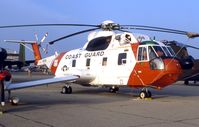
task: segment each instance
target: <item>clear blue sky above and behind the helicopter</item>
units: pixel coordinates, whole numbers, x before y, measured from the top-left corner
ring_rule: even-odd
[[[139,24],[168,27],[185,31],[199,32],[198,0],[1,0],[0,26],[36,23],[85,23],[100,24],[113,20],[119,24]],[[46,42],[71,32],[79,27],[32,27],[0,29],[0,47],[18,50],[16,44],[4,43],[5,39],[35,40],[34,33],[41,38],[45,32]],[[144,33],[157,40],[177,40],[199,47],[198,39],[185,36],[133,31]],[[87,40],[87,34],[74,36],[49,46],[49,54],[80,48]],[[194,56],[199,51],[191,50]],[[31,59],[31,52],[27,52]]]

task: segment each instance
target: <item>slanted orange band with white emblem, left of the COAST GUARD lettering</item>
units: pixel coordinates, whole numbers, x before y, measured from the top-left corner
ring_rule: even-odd
[[[57,67],[59,66],[59,63],[60,63],[62,57],[65,55],[65,53],[66,53],[66,52],[63,52],[63,53],[59,54],[59,55],[54,59],[54,61],[53,61],[53,63],[52,63],[52,66],[51,66],[51,72],[52,72],[53,74],[55,74],[55,72],[56,72],[56,70],[57,70]]]

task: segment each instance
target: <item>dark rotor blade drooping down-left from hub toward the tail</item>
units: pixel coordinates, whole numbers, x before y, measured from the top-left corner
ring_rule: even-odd
[[[52,44],[54,44],[57,41],[60,41],[60,40],[63,40],[63,39],[66,39],[66,38],[69,38],[69,37],[72,37],[72,36],[75,36],[75,35],[78,35],[78,34],[94,31],[94,30],[97,30],[97,29],[100,29],[100,28],[92,28],[92,29],[82,30],[82,31],[79,31],[79,32],[76,32],[76,33],[72,33],[72,34],[60,37],[60,38],[58,38],[56,40],[53,40],[53,41],[50,41],[48,43],[52,45]]]

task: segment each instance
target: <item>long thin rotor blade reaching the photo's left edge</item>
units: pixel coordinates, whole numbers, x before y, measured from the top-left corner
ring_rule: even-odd
[[[35,27],[35,26],[85,26],[85,27],[100,27],[99,25],[90,25],[90,24],[28,24],[28,25],[0,26],[0,28]]]

